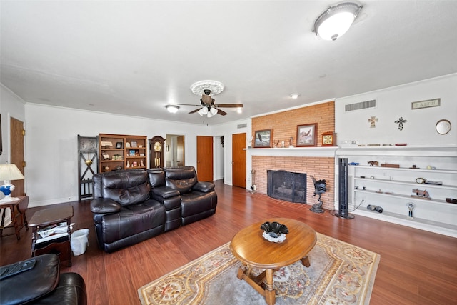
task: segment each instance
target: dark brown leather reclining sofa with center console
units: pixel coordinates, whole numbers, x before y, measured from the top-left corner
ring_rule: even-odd
[[[97,242],[112,252],[216,213],[214,184],[191,166],[94,175]]]

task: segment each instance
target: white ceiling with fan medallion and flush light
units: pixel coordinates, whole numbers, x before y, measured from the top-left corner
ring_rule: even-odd
[[[314,21],[337,3],[1,0],[0,81],[28,103],[212,125],[457,72],[457,1],[358,1],[323,41]],[[205,79],[243,113],[166,111],[199,104]]]

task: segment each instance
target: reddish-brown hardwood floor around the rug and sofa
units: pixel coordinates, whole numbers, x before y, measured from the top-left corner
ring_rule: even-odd
[[[89,228],[89,248],[74,256],[74,271],[86,281],[89,304],[139,304],[137,289],[230,241],[255,221],[288,217],[316,231],[381,254],[371,304],[457,304],[457,239],[363,216],[338,219],[311,206],[251,194],[216,181],[218,206],[207,219],[182,226],[126,249],[106,254],[96,246],[89,201],[72,202],[74,230]],[[29,209],[28,219],[39,209]],[[31,229],[0,239],[0,265],[30,257]],[[311,262],[312,264],[312,262]]]

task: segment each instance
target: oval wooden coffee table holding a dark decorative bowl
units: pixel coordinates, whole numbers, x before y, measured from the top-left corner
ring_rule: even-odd
[[[277,221],[288,227],[286,240],[274,243],[263,238],[261,224],[265,221]],[[231,240],[230,249],[233,255],[241,261],[238,269],[238,279],[245,280],[263,295],[268,305],[276,301],[276,291],[273,289],[273,272],[283,266],[288,266],[301,260],[303,266],[311,266],[307,254],[316,245],[316,231],[301,221],[286,218],[266,219],[239,231]],[[251,276],[251,268],[265,269],[256,277]],[[266,280],[266,289],[261,283]]]

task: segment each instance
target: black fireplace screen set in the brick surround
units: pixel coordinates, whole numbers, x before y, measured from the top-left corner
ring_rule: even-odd
[[[266,171],[266,194],[272,198],[306,204],[306,174],[291,171]]]

